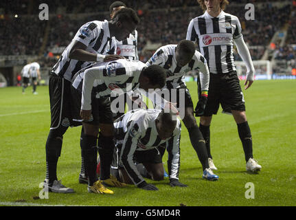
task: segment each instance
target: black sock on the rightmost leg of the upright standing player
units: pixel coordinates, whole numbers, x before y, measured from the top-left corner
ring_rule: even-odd
[[[253,158],[253,142],[248,122],[242,122],[238,124],[238,135],[242,141],[242,148],[244,148],[244,159],[246,159],[247,162],[250,157]]]

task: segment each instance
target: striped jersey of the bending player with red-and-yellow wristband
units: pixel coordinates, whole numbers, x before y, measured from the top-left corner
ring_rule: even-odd
[[[176,47],[177,45],[165,45],[160,47],[147,61],[146,65],[160,65],[164,69],[168,69],[166,78],[167,88],[179,88],[182,85],[186,85],[185,75],[187,72],[200,72],[201,90],[207,91],[209,89],[209,69],[203,55],[196,51],[192,60],[187,63],[187,65],[179,67],[176,61]]]

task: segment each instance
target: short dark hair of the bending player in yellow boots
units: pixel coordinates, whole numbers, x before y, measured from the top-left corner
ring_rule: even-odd
[[[149,79],[152,85],[159,85],[160,88],[166,85],[166,72],[159,65],[150,65],[144,69],[143,74]]]

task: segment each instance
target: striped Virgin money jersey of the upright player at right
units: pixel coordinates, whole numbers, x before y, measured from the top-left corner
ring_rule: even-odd
[[[198,43],[207,59],[209,72],[225,74],[236,70],[234,64],[234,39],[242,37],[238,17],[223,11],[218,17],[207,12],[190,21],[186,39]]]

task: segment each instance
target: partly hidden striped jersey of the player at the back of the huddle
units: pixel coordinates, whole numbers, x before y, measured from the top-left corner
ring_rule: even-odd
[[[127,39],[124,39],[123,41],[116,40],[116,54],[133,61],[139,61],[137,38],[138,32],[135,30],[135,32],[131,33]]]

